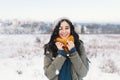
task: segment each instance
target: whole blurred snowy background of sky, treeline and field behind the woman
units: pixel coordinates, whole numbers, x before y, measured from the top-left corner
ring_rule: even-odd
[[[84,80],[120,80],[119,0],[0,0],[0,80],[48,80],[44,50],[59,18],[73,22],[90,68]]]

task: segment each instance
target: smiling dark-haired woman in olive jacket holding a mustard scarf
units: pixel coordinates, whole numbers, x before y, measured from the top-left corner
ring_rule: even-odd
[[[82,80],[86,76],[88,59],[70,20],[56,24],[44,51],[44,72],[49,80]]]

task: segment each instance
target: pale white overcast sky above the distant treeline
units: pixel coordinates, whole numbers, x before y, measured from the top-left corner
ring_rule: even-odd
[[[120,0],[0,0],[0,19],[120,22]]]

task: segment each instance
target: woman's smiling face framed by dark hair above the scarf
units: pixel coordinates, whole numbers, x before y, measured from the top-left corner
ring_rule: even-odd
[[[61,22],[59,27],[59,36],[61,38],[67,38],[69,35],[70,35],[70,25],[66,21]]]

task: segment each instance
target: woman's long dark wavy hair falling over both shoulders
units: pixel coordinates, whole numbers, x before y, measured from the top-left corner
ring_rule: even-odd
[[[63,21],[66,21],[69,25],[70,25],[70,35],[73,35],[74,36],[74,44],[75,44],[75,47],[76,47],[76,50],[78,51],[79,55],[80,55],[80,40],[79,40],[79,35],[75,32],[75,29],[74,29],[74,25],[72,24],[72,22],[68,19],[61,19],[56,25],[55,25],[55,28],[54,28],[54,31],[51,35],[51,38],[50,38],[50,41],[48,42],[48,44],[46,44],[45,46],[49,45],[49,48],[50,50],[52,51],[52,55],[53,57],[56,57],[57,56],[57,47],[55,45],[55,42],[56,42],[56,38],[59,36],[59,27],[61,25],[61,23]],[[46,54],[46,53],[44,53]]]

